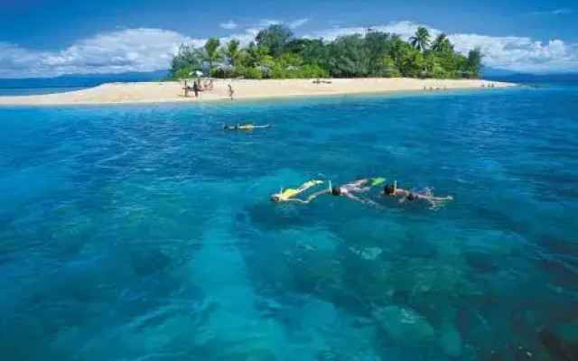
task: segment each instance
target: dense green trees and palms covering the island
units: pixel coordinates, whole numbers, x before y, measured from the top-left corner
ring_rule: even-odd
[[[419,27],[407,42],[389,32],[344,35],[332,42],[296,38],[291,29],[275,24],[258,32],[254,42],[241,47],[232,39],[221,46],[210,38],[194,49],[182,44],[173,56],[170,77],[190,78],[203,70],[217,78],[478,78],[482,54],[454,50],[443,33],[432,40]]]

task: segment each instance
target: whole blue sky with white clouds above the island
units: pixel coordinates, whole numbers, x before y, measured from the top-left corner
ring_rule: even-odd
[[[491,68],[578,71],[577,19],[575,0],[0,0],[0,78],[168,69],[183,42],[247,43],[272,23],[326,40],[422,25]]]

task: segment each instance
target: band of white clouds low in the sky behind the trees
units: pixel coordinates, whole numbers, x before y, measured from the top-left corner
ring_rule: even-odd
[[[238,39],[243,45],[254,40],[263,27],[274,22],[260,22],[244,32],[221,38]],[[297,20],[295,20],[297,22]],[[275,22],[276,23],[276,22]],[[396,32],[404,39],[414,34],[419,24],[395,22],[375,27],[381,32]],[[433,36],[441,32],[428,27]],[[333,27],[307,35],[333,40],[341,35],[363,33],[363,27]],[[515,71],[578,71],[578,43],[553,39],[536,41],[520,36],[488,36],[454,33],[448,37],[457,51],[467,53],[479,47],[484,63],[490,67]],[[205,39],[193,39],[179,32],[163,29],[122,29],[97,34],[73,43],[61,51],[35,51],[17,44],[0,42],[0,78],[51,77],[62,74],[118,73],[168,69],[172,54],[182,43],[200,47]]]

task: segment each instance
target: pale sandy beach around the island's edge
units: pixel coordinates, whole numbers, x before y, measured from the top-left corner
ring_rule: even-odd
[[[103,104],[201,103],[230,101],[228,85],[236,100],[284,97],[343,96],[393,92],[443,92],[456,89],[491,89],[517,84],[483,79],[325,79],[331,83],[314,84],[312,79],[215,79],[213,90],[184,97],[183,82],[107,83],[64,93],[29,96],[0,96],[0,106],[65,106]],[[483,86],[482,86],[483,85]]]

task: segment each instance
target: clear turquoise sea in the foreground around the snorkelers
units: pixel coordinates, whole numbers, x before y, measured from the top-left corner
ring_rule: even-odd
[[[0,108],[0,358],[563,359],[577,115],[575,87]],[[274,127],[220,130],[246,119]],[[455,199],[268,200],[374,175]]]

